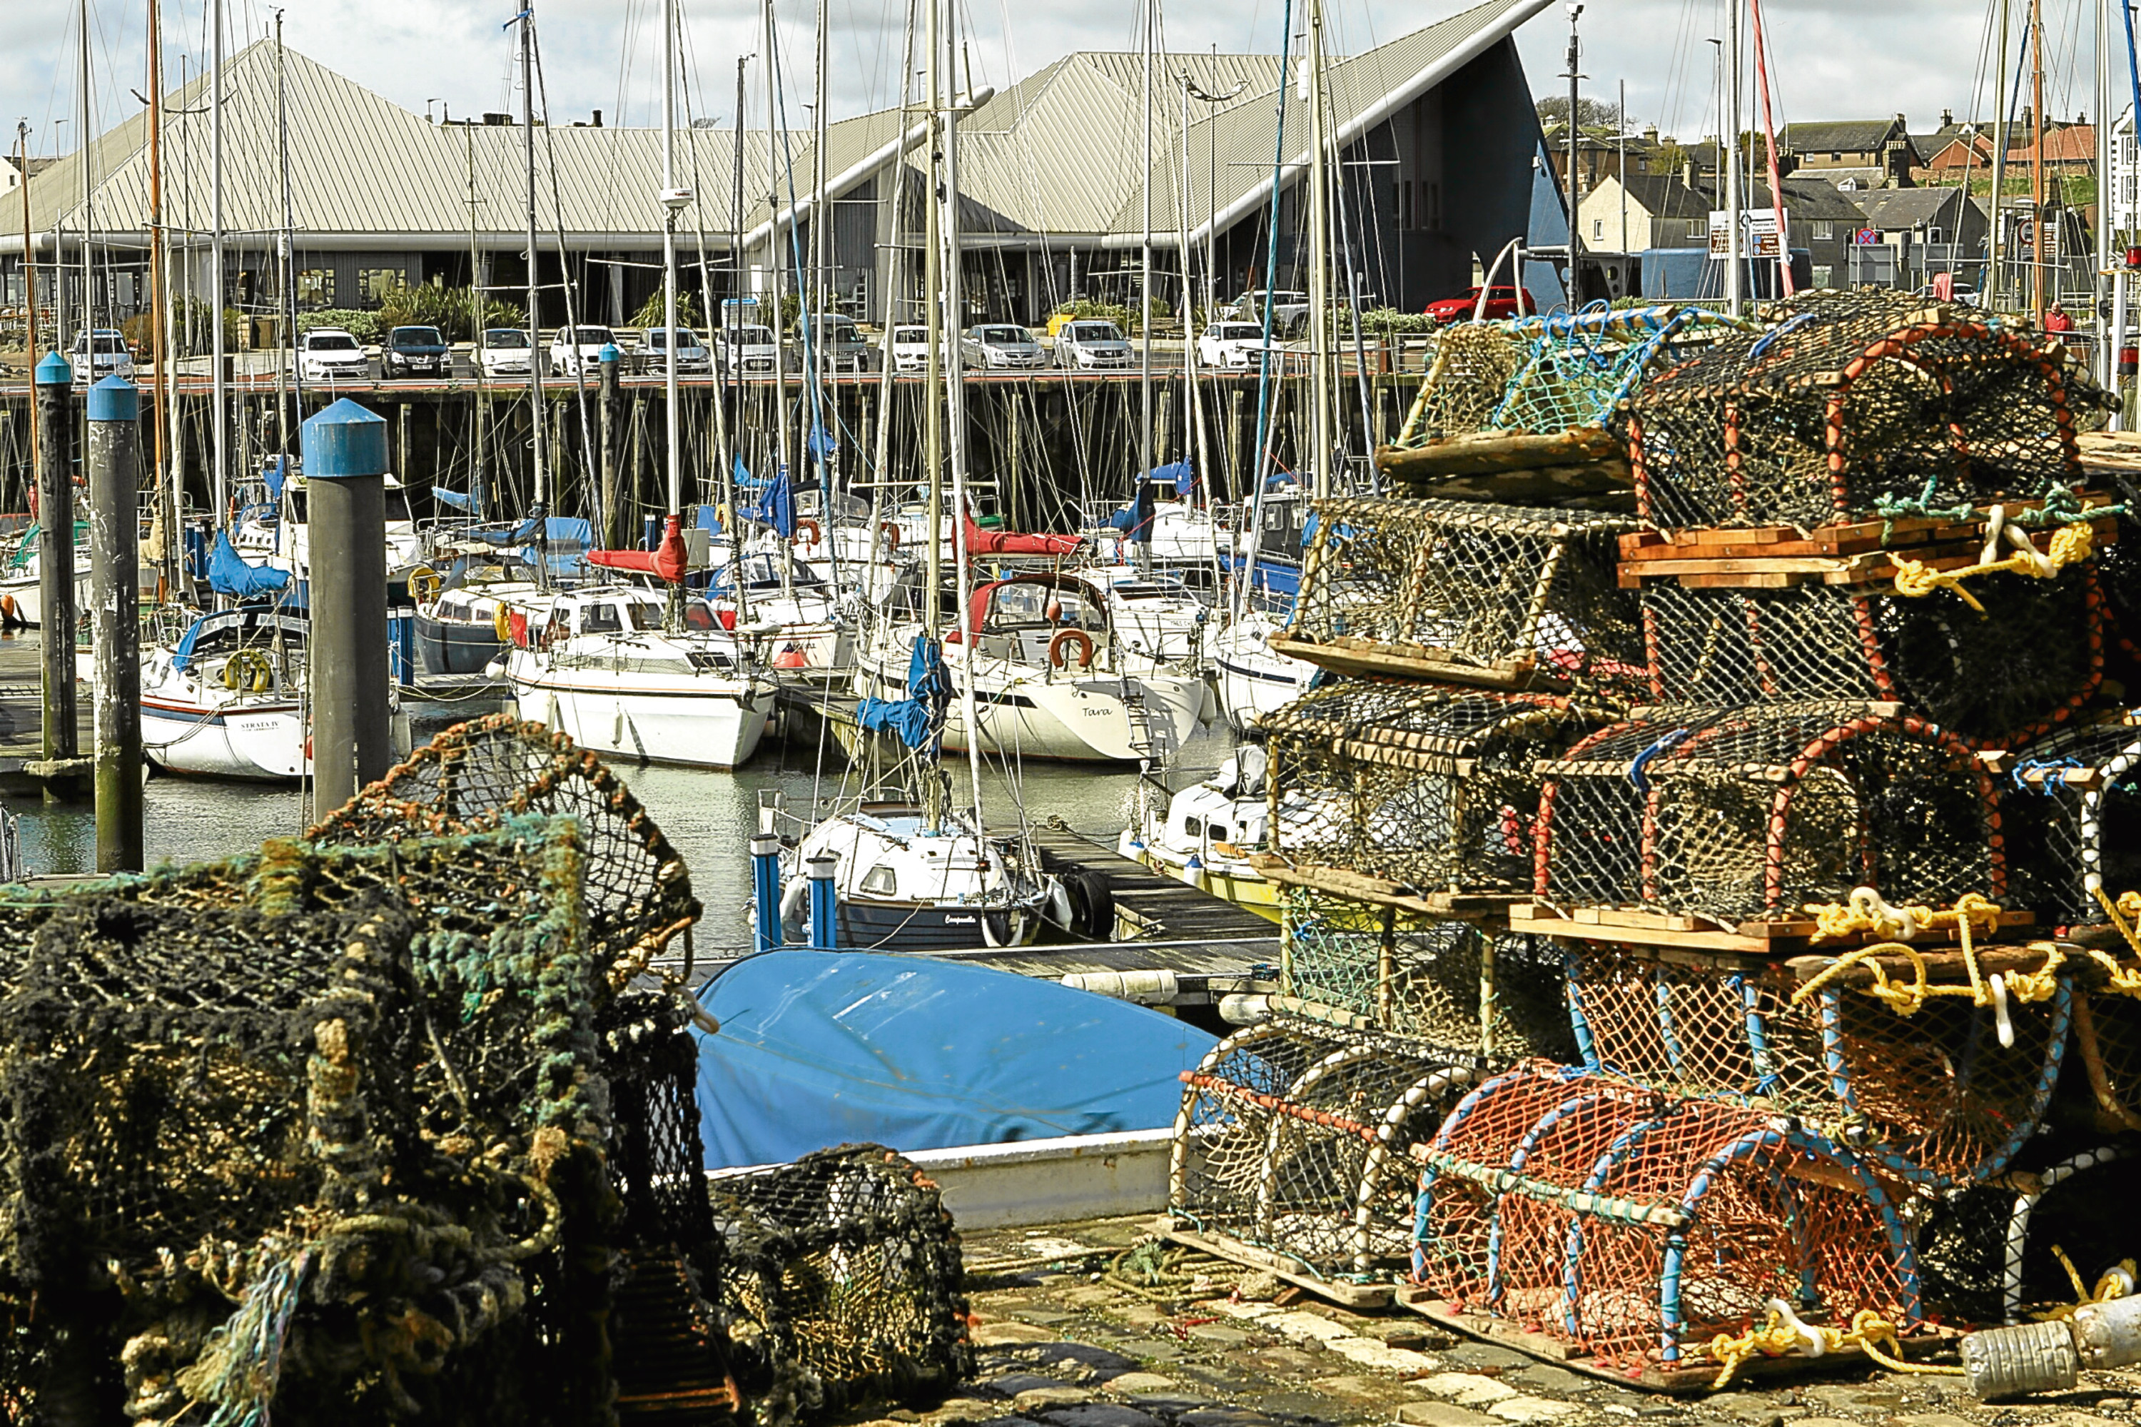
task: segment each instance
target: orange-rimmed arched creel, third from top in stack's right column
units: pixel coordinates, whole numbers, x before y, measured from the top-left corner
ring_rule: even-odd
[[[2000,801],[1953,733],[1878,705],[1651,711],[1539,763],[1537,885],[1559,906],[1724,923],[1873,887],[2004,893]]]

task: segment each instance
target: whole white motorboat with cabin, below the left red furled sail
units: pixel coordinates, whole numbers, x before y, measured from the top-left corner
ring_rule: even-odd
[[[522,718],[580,748],[685,767],[732,769],[764,737],[773,684],[747,639],[722,630],[700,600],[685,628],[666,630],[668,598],[634,585],[559,594],[492,669],[512,684]]]

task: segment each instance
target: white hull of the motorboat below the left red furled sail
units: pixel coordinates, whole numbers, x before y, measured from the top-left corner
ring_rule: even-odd
[[[518,662],[518,660],[516,660]],[[580,748],[638,763],[732,769],[758,752],[773,714],[771,686],[724,681],[677,692],[617,690],[510,669],[520,718]]]

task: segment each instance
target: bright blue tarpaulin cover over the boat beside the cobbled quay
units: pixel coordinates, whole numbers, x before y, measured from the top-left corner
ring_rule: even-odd
[[[899,1151],[1171,1125],[1197,1026],[1011,971],[869,951],[769,951],[700,988],[709,1170],[826,1144]]]

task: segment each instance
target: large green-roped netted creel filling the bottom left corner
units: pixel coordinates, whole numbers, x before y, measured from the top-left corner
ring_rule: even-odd
[[[602,1421],[580,874],[518,818],[0,902],[15,1410]]]

